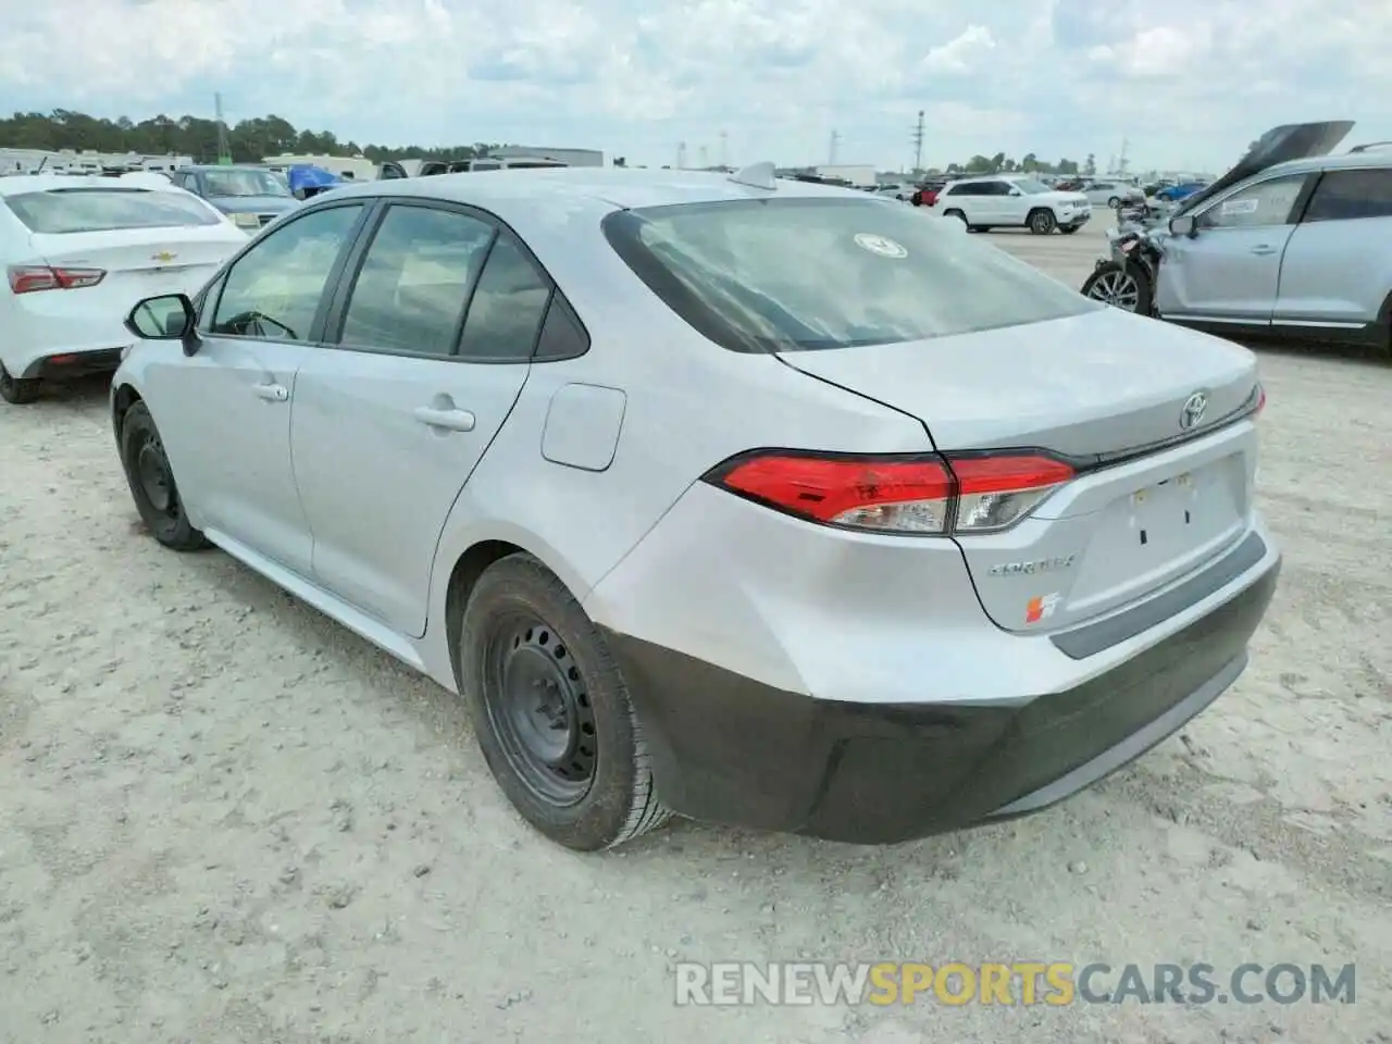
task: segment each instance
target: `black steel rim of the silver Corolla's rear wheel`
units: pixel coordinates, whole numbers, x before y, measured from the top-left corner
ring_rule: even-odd
[[[544,621],[515,612],[494,625],[486,657],[483,700],[509,767],[537,798],[575,805],[594,780],[599,738],[571,650]]]

